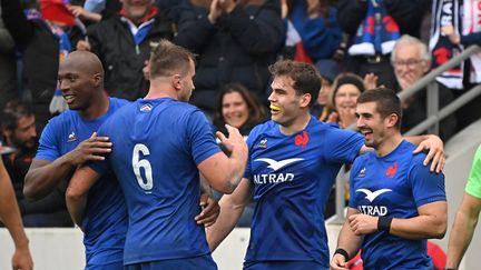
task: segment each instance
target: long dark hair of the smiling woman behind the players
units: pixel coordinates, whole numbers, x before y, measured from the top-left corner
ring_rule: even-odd
[[[233,92],[239,93],[240,97],[243,98],[243,100],[247,103],[247,109],[248,109],[249,114],[248,114],[246,123],[249,123],[249,126],[252,126],[252,124],[261,123],[262,121],[265,120],[266,110],[264,107],[261,106],[261,103],[257,100],[257,97],[254,96],[254,93],[251,92],[242,83],[230,82],[230,83],[225,84],[222,88],[220,94],[218,96],[218,99],[217,99],[217,110],[215,112],[214,123],[219,129],[225,123],[225,120],[224,120],[224,117],[222,113],[224,96],[226,96],[227,93],[233,93]],[[242,128],[239,128],[239,130],[243,131]],[[246,130],[246,131],[248,132],[249,130]],[[243,133],[243,132],[240,132],[240,133]]]

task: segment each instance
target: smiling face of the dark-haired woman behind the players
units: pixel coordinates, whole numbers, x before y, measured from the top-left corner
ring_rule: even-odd
[[[227,92],[222,100],[222,116],[227,124],[240,128],[249,117],[247,102],[237,92]]]

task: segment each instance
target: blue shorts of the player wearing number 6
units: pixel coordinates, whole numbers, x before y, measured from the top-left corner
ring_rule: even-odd
[[[194,258],[140,262],[124,266],[124,270],[217,270],[209,254]]]

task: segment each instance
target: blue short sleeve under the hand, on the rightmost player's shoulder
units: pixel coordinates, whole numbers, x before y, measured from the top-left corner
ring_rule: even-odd
[[[434,201],[445,201],[444,174],[431,172],[430,166],[423,166],[421,159],[418,161],[409,176],[416,207]]]

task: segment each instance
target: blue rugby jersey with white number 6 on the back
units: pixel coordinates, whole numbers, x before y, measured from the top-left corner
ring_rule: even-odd
[[[125,264],[210,254],[200,212],[197,166],[220,151],[204,113],[169,98],[124,107],[99,130],[114,143],[99,173],[118,176],[129,212]],[[210,269],[199,266],[199,269]]]

